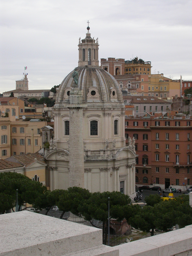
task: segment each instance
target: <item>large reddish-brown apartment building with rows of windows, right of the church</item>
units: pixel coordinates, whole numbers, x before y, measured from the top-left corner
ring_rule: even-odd
[[[192,118],[178,113],[125,118],[125,138],[135,138],[136,184],[192,185]]]

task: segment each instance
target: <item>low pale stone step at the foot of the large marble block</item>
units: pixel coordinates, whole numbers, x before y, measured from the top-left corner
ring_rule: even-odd
[[[61,256],[119,256],[119,251],[115,247],[101,245],[98,247],[86,249],[83,251],[76,251]]]

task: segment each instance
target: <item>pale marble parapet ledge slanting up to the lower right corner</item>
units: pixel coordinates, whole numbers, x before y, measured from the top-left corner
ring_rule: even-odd
[[[118,245],[120,256],[192,255],[192,225],[157,236]]]

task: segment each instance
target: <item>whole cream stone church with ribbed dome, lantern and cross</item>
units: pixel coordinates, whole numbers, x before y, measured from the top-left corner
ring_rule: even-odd
[[[99,67],[98,38],[79,38],[79,61],[57,90],[46,151],[50,190],[83,187],[135,197],[135,142],[125,146],[120,86]]]

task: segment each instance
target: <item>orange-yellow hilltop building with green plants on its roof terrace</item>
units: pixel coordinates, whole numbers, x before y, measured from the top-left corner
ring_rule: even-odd
[[[135,57],[132,60],[125,60],[125,75],[150,75],[151,68],[151,61],[144,61],[142,59],[138,60],[138,57]]]

